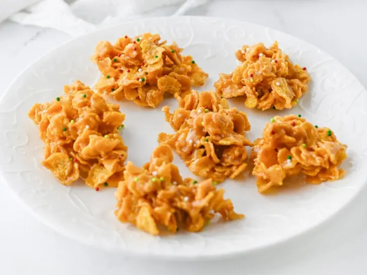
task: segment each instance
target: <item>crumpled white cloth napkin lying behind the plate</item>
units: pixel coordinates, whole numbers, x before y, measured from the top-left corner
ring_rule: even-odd
[[[42,0],[10,20],[80,36],[132,19],[184,15],[209,0]],[[181,6],[178,6],[181,4]]]

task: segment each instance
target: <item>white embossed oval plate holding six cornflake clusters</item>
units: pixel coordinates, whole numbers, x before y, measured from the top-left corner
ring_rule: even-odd
[[[180,231],[168,237],[152,237],[133,226],[119,223],[113,215],[114,190],[99,192],[83,184],[65,187],[40,165],[42,142],[38,127],[27,117],[36,102],[62,94],[63,86],[80,79],[93,85],[99,76],[89,57],[100,40],[115,41],[125,34],[157,32],[176,41],[192,54],[210,78],[200,90],[212,89],[220,72],[236,66],[234,52],[242,44],[274,40],[290,58],[306,66],[311,74],[310,90],[297,107],[285,111],[244,108],[243,100],[230,104],[246,111],[252,124],[251,140],[261,136],[265,123],[275,114],[301,113],[320,126],[330,127],[348,145],[344,179],[321,185],[286,189],[276,195],[257,192],[254,177],[228,180],[220,187],[246,219],[212,223],[201,233]],[[159,107],[169,104],[168,99]],[[136,165],[149,160],[157,146],[157,134],[172,132],[157,109],[140,108],[132,102],[120,104],[126,113],[124,140],[128,159]],[[225,19],[178,17],[158,18],[89,34],[47,53],[28,67],[11,85],[0,103],[0,167],[10,188],[44,223],[84,243],[129,254],[176,259],[230,256],[285,241],[319,225],[337,213],[367,181],[367,93],[350,72],[320,49],[287,34],[262,26]],[[178,157],[175,163],[184,176],[192,176]]]

